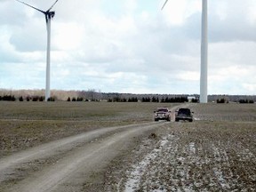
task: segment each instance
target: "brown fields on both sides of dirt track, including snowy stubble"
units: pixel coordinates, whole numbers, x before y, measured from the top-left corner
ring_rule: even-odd
[[[0,158],[80,132],[152,122],[156,107],[177,105],[0,102]],[[106,191],[129,188],[129,180],[138,179],[132,167],[145,170],[140,185],[132,186],[137,191],[256,191],[256,105],[188,105],[193,123],[162,124],[156,139],[146,136],[138,148],[113,160]]]

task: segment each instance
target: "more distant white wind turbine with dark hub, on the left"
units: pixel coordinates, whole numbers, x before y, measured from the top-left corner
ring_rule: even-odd
[[[28,5],[29,7],[35,9],[38,12],[42,12],[44,13],[45,16],[45,20],[46,20],[46,28],[47,28],[47,52],[46,52],[46,85],[45,85],[45,101],[47,101],[48,99],[50,99],[51,97],[51,92],[50,92],[50,62],[51,62],[51,20],[55,15],[55,12],[51,12],[52,7],[59,1],[56,0],[54,2],[54,4],[52,4],[52,6],[46,11],[42,11],[40,9],[37,9],[36,7],[30,5],[30,4],[26,4],[20,0],[16,0],[18,2],[20,2],[21,4],[25,4]]]

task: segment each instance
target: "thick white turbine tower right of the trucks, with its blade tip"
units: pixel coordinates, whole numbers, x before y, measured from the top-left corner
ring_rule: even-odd
[[[168,0],[164,2],[162,10]],[[200,103],[207,103],[207,69],[208,69],[208,13],[207,0],[202,0],[202,32],[201,32],[201,76],[200,76]]]

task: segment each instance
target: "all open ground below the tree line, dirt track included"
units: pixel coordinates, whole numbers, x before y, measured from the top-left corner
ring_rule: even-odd
[[[0,191],[44,186],[44,178],[63,171],[61,164],[69,162],[78,162],[74,172],[67,170],[76,177],[63,180],[63,173],[58,190],[49,191],[256,191],[255,104],[182,104],[195,112],[196,121],[155,123],[152,112],[161,105],[172,111],[177,107],[0,102],[0,169],[7,166],[1,159],[13,156],[14,162],[16,151],[25,158],[23,149],[41,148],[15,163],[12,172],[8,168],[0,173]],[[77,141],[68,139],[68,148],[60,145],[66,139],[54,141],[70,135]],[[49,141],[52,147],[46,150],[42,144]]]

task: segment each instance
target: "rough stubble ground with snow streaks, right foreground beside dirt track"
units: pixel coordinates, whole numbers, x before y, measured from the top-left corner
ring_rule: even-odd
[[[140,175],[141,191],[255,190],[254,124],[181,123],[162,136],[160,147],[139,163],[150,159]]]

